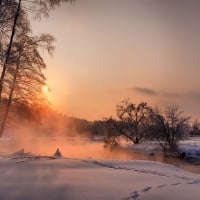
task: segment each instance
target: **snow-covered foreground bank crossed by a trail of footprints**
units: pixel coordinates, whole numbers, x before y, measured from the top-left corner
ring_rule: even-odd
[[[200,175],[152,161],[1,155],[0,174],[2,200],[199,200],[200,196]]]

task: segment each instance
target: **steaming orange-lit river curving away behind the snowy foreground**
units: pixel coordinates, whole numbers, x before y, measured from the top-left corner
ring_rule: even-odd
[[[0,140],[0,154],[24,149],[25,152],[31,152],[34,155],[49,156],[53,155],[57,148],[64,157],[68,158],[150,160],[171,164],[200,174],[200,162],[197,160],[181,160],[160,155],[135,153],[125,148],[110,151],[104,148],[102,140],[98,138],[2,138]]]

